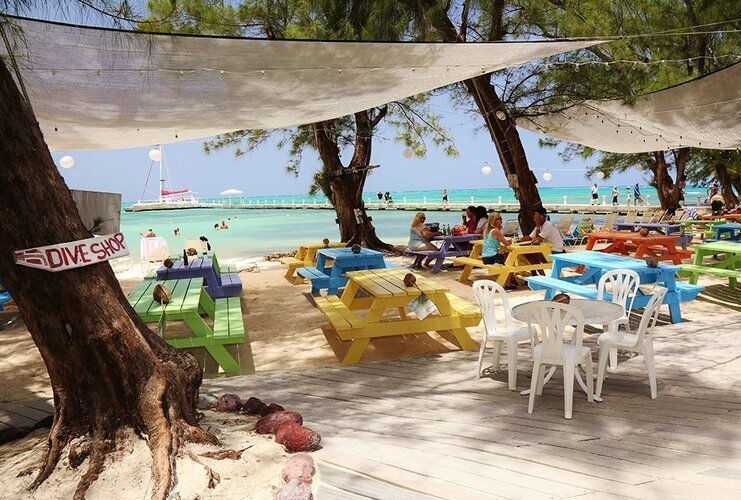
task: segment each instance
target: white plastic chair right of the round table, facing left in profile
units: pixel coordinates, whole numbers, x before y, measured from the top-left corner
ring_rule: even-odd
[[[599,350],[599,365],[597,368],[597,397],[602,395],[602,384],[605,381],[608,352],[612,349],[623,349],[643,355],[648,371],[648,382],[651,386],[651,399],[656,399],[656,364],[654,363],[653,329],[659,317],[659,309],[664,302],[666,288],[657,287],[651,299],[646,304],[641,322],[635,333],[618,330],[603,333],[597,343]]]

